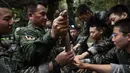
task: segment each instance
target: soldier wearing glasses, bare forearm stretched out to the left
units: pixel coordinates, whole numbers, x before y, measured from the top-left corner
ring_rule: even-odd
[[[105,60],[111,64],[88,64],[76,61],[79,68],[91,69],[98,73],[129,73],[130,72],[130,19],[122,19],[116,22],[113,29],[112,41],[116,49],[108,52]],[[103,60],[103,59],[102,59]]]

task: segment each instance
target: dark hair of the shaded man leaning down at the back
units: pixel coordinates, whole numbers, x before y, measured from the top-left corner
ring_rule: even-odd
[[[92,12],[91,9],[87,5],[81,4],[77,8],[76,15],[79,16],[81,14],[84,14],[86,11]]]

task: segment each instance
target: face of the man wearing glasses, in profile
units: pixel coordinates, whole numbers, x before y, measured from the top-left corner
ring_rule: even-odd
[[[116,48],[126,49],[129,42],[128,36],[124,36],[123,33],[119,31],[119,29],[119,27],[114,27],[112,41],[114,42]]]

